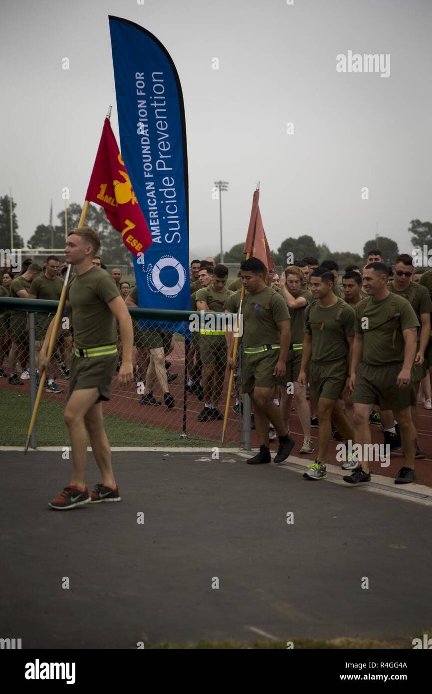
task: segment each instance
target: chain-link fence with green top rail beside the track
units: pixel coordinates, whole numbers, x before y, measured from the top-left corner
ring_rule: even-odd
[[[57,304],[0,298],[0,369],[7,373],[0,378],[1,446],[25,444],[39,386],[37,357]],[[134,382],[127,387],[119,384],[118,331],[119,363],[110,400],[103,404],[111,446],[221,446],[230,373],[225,336],[189,332],[191,312],[129,311],[134,325]],[[155,319],[163,323],[155,324]],[[74,350],[73,325],[67,329],[64,324],[38,409],[33,448],[68,446],[63,413]],[[238,360],[223,446],[250,449],[250,414],[236,405],[239,366]]]

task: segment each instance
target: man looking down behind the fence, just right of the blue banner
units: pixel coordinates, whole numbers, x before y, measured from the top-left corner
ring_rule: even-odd
[[[228,268],[218,264],[213,270],[213,282],[208,287],[202,287],[196,292],[196,307],[198,311],[214,311],[223,313],[223,307],[232,292],[226,288]],[[223,390],[225,369],[227,366],[227,346],[225,330],[216,325],[205,328],[208,321],[200,321],[200,358],[202,362],[202,389],[204,391],[204,407],[198,414],[198,421],[207,419],[223,420],[218,410],[219,400]],[[216,321],[215,321],[216,323]]]

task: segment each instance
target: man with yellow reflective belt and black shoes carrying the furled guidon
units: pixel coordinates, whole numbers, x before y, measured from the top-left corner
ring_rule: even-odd
[[[294,441],[286,433],[279,407],[273,402],[275,389],[286,372],[286,356],[290,345],[290,314],[284,297],[266,285],[266,266],[252,257],[241,264],[245,298],[241,304],[243,316],[244,358],[241,369],[241,391],[248,393],[254,408],[259,452],[248,459],[248,464],[270,463],[268,440],[269,421],[279,437],[275,463],[290,455]],[[225,312],[237,313],[241,291],[236,291],[225,303]],[[233,332],[227,332],[228,366],[232,359]]]

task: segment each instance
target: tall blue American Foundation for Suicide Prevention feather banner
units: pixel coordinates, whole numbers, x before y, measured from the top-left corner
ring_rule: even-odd
[[[146,252],[133,258],[139,306],[189,310],[188,172],[180,79],[153,34],[128,19],[109,19],[121,155],[152,237]],[[170,327],[176,332],[185,328],[182,323]]]

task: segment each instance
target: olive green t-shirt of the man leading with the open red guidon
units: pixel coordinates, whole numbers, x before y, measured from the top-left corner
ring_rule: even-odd
[[[83,275],[74,275],[67,292],[76,347],[116,344],[116,321],[108,303],[120,296],[120,292],[112,278],[101,268],[93,266]]]

